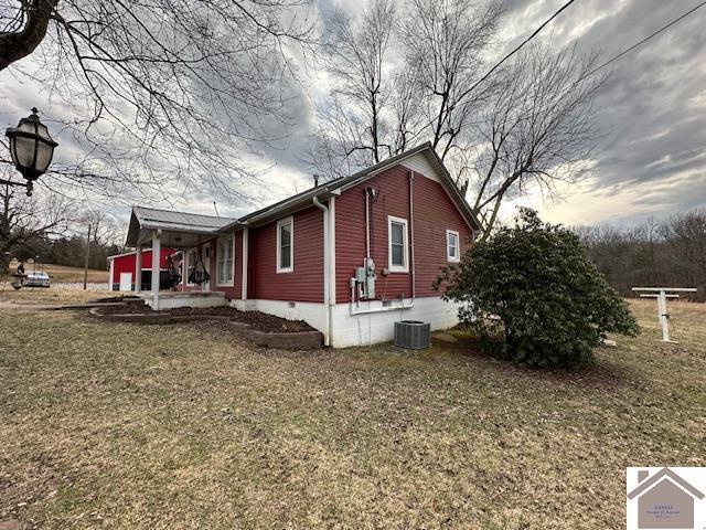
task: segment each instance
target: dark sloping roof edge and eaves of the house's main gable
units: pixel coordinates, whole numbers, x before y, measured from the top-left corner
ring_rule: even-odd
[[[392,158],[383,160],[382,162],[378,162],[374,166],[370,166],[359,171],[357,173],[347,177],[340,177],[329,182],[324,182],[314,188],[302,191],[301,193],[297,193],[296,195],[288,197],[287,199],[270,204],[269,206],[248,213],[247,215],[244,215],[238,220],[232,222],[226,226],[226,230],[242,224],[267,222],[272,219],[280,218],[286,213],[300,210],[301,208],[309,205],[314,197],[321,199],[330,197],[331,194],[339,194],[341,193],[341,191],[344,191],[352,186],[359,184],[360,182],[363,182],[417,153],[425,155],[431,167],[434,167],[441,174],[441,186],[443,186],[447,193],[449,194],[458,210],[461,212],[461,215],[463,216],[466,222],[474,231],[481,230],[480,223],[473,214],[471,206],[468,204],[468,202],[466,202],[466,199],[461,197],[461,192],[456,187],[451,174],[449,173],[448,169],[446,169],[446,166],[443,166],[443,162],[431,147],[431,144],[428,141]]]

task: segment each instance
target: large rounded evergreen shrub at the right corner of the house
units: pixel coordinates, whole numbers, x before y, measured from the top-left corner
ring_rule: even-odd
[[[481,344],[515,362],[577,367],[607,332],[634,336],[628,304],[586,258],[576,234],[523,209],[514,226],[472,245],[439,278],[462,303],[460,320]]]

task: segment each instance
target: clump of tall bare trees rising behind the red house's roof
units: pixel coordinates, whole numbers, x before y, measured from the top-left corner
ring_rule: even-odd
[[[375,9],[378,4],[364,13],[361,28],[371,24],[371,13],[394,19],[394,11]],[[309,161],[335,177],[430,141],[462,193],[471,193],[486,237],[504,201],[536,187],[552,193],[558,181],[580,174],[597,134],[591,104],[603,81],[590,75],[597,57],[575,47],[530,46],[486,77],[484,57],[495,45],[499,3],[408,0],[406,8],[409,17],[396,34],[368,30],[377,35],[374,50],[392,46],[402,64],[393,61],[370,74],[349,65],[384,53],[365,55],[371,46],[355,39],[349,42],[356,45],[336,47],[330,71],[346,91],[334,91],[320,109],[321,130]],[[349,18],[336,20],[335,28],[351,28]],[[371,80],[376,83],[366,84]],[[368,112],[351,113],[351,102]],[[371,156],[360,157],[361,151]]]

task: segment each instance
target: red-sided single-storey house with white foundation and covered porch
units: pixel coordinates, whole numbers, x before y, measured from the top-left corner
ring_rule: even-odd
[[[184,252],[180,292],[153,277],[152,308],[227,304],[306,320],[346,347],[391,340],[402,319],[453,326],[457,306],[431,284],[477,230],[425,144],[236,220],[135,206],[126,244],[137,268],[149,244]]]

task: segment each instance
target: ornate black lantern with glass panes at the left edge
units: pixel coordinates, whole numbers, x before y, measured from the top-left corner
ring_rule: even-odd
[[[30,116],[22,118],[17,127],[10,127],[6,131],[10,139],[12,163],[26,182],[0,179],[0,183],[3,184],[25,187],[28,197],[32,194],[34,181],[46,172],[54,156],[54,148],[58,145],[52,139],[36,113],[36,108],[32,108]]]

